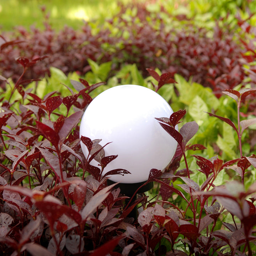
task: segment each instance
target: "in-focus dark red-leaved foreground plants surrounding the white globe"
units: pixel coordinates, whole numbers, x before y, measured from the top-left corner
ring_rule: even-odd
[[[189,144],[199,126],[195,121],[181,126],[186,110],[155,117],[159,128],[177,140],[176,154],[164,173],[150,171],[148,182],[155,182],[156,198],[142,194],[124,205],[126,195],[114,185],[107,186],[107,177],[101,176],[118,156],[105,155],[107,144],[100,145],[101,138],[81,138],[90,152],[87,157],[80,146],[80,118],[92,100],[90,94],[103,83],[89,85],[80,78],[70,81],[74,89],[69,88],[67,96],[53,91],[38,97],[30,86],[23,86],[31,82],[23,78],[27,68],[42,61],[44,57],[17,58],[23,72],[1,98],[0,246],[4,255],[256,253],[256,156],[242,151],[243,134],[256,119],[240,121],[241,103],[256,89],[225,90],[236,102],[237,125],[208,113],[237,134],[239,156],[228,161],[207,158],[203,145]],[[171,73],[148,72],[158,92],[175,82]],[[181,77],[175,79],[177,89],[181,88]],[[15,97],[16,92],[20,97]],[[174,128],[177,124],[179,132]],[[192,151],[199,154],[188,157]],[[99,165],[91,165],[92,159]],[[190,159],[196,160],[195,169]],[[229,182],[219,181],[224,171]],[[114,174],[129,175],[123,169],[112,170]],[[134,222],[128,214],[137,204],[141,210]]]

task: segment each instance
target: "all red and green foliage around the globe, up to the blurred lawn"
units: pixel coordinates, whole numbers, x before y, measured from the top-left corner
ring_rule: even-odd
[[[255,28],[237,17],[241,48],[234,24],[226,30],[220,20],[211,37],[187,17],[150,8],[121,10],[82,33],[56,33],[46,23],[43,32],[20,28],[17,38],[1,37],[2,254],[256,254]],[[177,140],[176,154],[163,173],[150,171],[154,188],[137,199],[101,176],[118,157],[105,156],[107,144],[79,138],[92,98],[119,84],[147,86],[175,110],[155,118]]]

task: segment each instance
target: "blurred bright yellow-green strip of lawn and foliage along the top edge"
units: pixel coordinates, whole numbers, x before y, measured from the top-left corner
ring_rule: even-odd
[[[214,20],[226,17],[229,20],[239,14],[246,18],[247,9],[256,11],[253,0],[0,0],[0,31],[10,31],[16,26],[29,28],[31,25],[43,28],[43,21],[50,17],[50,25],[60,30],[64,25],[79,29],[84,21],[101,24],[119,10],[119,5],[142,3],[152,15],[161,11],[171,15],[193,18],[197,25],[214,26]],[[166,15],[162,13],[161,15]],[[251,19],[256,22],[256,17]]]

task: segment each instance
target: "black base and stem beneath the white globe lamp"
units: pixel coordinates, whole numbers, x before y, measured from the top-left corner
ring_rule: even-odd
[[[112,180],[107,180],[107,185],[112,185],[116,182]],[[134,193],[138,190],[139,187],[141,187],[143,184],[145,184],[146,181],[138,182],[138,183],[118,183],[115,188],[120,188],[120,193],[125,194],[128,197],[132,197]],[[154,182],[146,183],[143,187],[141,187],[137,192],[136,195],[132,198],[132,202],[130,202],[130,198],[126,199],[126,205],[129,203],[129,205],[132,205],[132,203],[137,199],[137,194],[144,193],[146,191],[151,190],[153,188]],[[138,209],[137,207],[134,207],[132,212],[128,214],[127,217],[134,218],[134,220],[137,220],[138,218]]]

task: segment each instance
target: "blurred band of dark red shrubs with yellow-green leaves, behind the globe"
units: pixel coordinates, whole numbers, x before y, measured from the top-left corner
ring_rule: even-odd
[[[98,64],[111,62],[112,74],[124,64],[136,63],[144,77],[146,68],[159,68],[186,80],[192,77],[219,97],[222,90],[233,89],[248,76],[244,65],[252,59],[245,55],[255,54],[255,47],[246,35],[255,28],[245,25],[240,19],[234,28],[232,22],[223,25],[220,19],[211,34],[186,16],[171,16],[164,9],[149,11],[144,4],[121,5],[120,12],[103,26],[87,22],[79,31],[65,27],[56,32],[46,20],[43,31],[17,27],[3,34],[0,73],[16,81],[22,70],[15,58],[20,56],[30,60],[48,57],[33,66],[26,79],[50,75],[50,67],[84,75],[90,69],[88,59]],[[246,31],[239,33],[240,27]],[[242,44],[238,37],[244,38]]]

